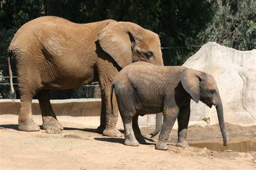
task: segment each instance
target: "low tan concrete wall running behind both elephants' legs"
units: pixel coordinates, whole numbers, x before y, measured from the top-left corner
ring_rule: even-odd
[[[1,115],[18,115],[20,100],[0,100]],[[98,126],[100,122],[101,100],[99,98],[83,98],[69,100],[51,100],[52,109],[61,121],[79,122],[88,126]],[[38,100],[32,101],[32,114],[41,115]],[[71,117],[66,117],[71,116]],[[1,117],[0,117],[1,118]],[[2,116],[1,122],[5,117]],[[155,115],[139,117],[140,127],[156,124]],[[118,128],[123,128],[122,118],[119,115]]]

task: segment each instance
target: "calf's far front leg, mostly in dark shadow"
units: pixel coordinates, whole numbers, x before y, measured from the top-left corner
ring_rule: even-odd
[[[178,116],[178,141],[176,146],[187,147],[187,126],[190,121],[190,104],[180,108]]]

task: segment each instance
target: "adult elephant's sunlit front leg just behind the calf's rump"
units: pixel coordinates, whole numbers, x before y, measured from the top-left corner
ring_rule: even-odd
[[[103,131],[103,135],[112,136],[112,137],[120,137],[122,133],[116,128],[116,124],[118,121],[118,106],[117,100],[114,93],[112,94],[112,103],[113,110],[111,108],[111,86],[107,86],[104,91],[105,97],[105,105],[106,105],[106,129]]]

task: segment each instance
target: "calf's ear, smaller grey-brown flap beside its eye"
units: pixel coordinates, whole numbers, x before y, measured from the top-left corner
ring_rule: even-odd
[[[192,99],[198,103],[200,98],[199,73],[197,70],[185,69],[180,75],[183,88],[191,95]]]

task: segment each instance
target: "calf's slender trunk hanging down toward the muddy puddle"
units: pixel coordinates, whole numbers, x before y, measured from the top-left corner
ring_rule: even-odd
[[[223,115],[223,105],[221,100],[215,105],[215,107],[217,110],[219,126],[220,126],[221,134],[223,137],[223,144],[224,146],[227,146],[226,130],[225,130],[225,124],[224,124],[224,115]]]

